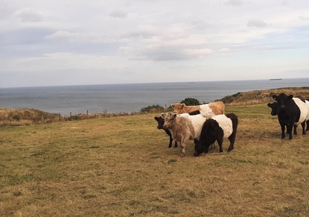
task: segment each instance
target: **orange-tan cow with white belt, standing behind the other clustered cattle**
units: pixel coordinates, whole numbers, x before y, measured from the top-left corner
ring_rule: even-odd
[[[209,104],[203,104],[198,106],[186,106],[184,103],[171,104],[171,107],[179,115],[182,113],[189,113],[191,111],[200,111],[203,113],[213,113],[214,115],[224,114],[225,105],[221,101],[210,102]]]

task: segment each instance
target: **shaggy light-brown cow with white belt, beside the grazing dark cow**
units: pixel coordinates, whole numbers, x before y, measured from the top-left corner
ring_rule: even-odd
[[[162,113],[161,117],[164,118],[164,129],[171,131],[171,135],[180,144],[180,157],[185,156],[185,143],[187,140],[194,140],[194,138],[200,138],[200,131],[203,123],[207,118],[213,115],[189,115],[184,113],[177,115],[176,113],[168,112]]]

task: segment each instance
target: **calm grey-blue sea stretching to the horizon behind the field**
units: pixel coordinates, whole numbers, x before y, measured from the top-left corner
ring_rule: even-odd
[[[309,86],[309,77],[0,88],[0,108],[38,109],[61,115],[133,113],[157,104],[169,107],[187,97],[208,103],[239,92],[304,86]]]

